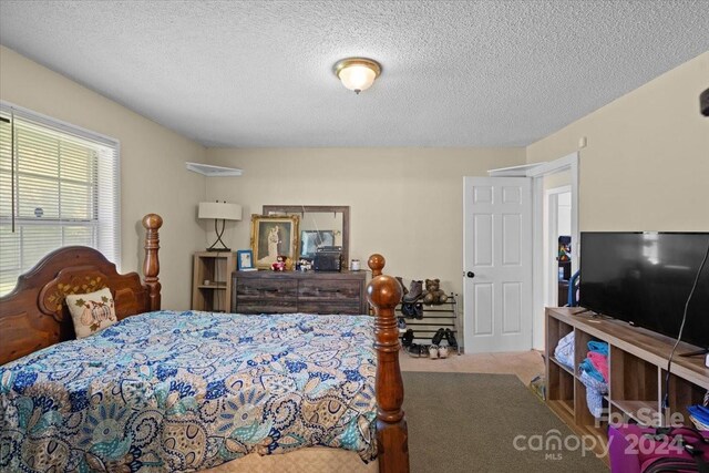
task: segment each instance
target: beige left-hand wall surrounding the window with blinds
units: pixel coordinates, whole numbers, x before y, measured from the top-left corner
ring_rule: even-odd
[[[157,213],[163,307],[189,307],[192,258],[203,249],[196,205],[205,177],[185,169],[205,148],[78,83],[0,47],[0,100],[121,142],[121,270],[140,270],[145,214]]]

